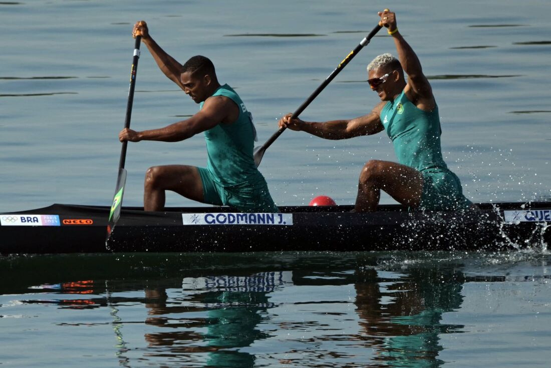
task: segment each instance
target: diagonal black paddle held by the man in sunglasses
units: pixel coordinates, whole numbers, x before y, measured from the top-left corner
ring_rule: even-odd
[[[367,35],[363,40],[361,40],[361,42],[358,44],[358,46],[356,46],[356,48],[354,48],[354,50],[350,51],[350,53],[347,55],[347,57],[345,57],[344,60],[341,61],[341,63],[337,66],[337,68],[335,68],[334,71],[331,72],[331,74],[329,74],[329,77],[327,77],[323,81],[323,83],[320,86],[318,86],[318,88],[314,91],[314,93],[312,93],[310,95],[310,97],[306,99],[306,101],[302,102],[302,105],[300,105],[300,107],[298,109],[296,109],[296,111],[293,113],[291,118],[299,117],[300,113],[302,111],[304,111],[304,109],[306,109],[306,107],[308,105],[310,105],[310,102],[314,101],[314,99],[317,97],[317,95],[320,94],[321,91],[324,88],[326,88],[326,86],[333,80],[333,78],[335,78],[337,76],[338,73],[340,73],[342,71],[342,69],[344,69],[345,66],[347,66],[347,64],[350,62],[350,60],[352,60],[352,58],[354,56],[356,56],[356,54],[365,45],[369,44],[369,41],[371,41],[372,37],[375,36],[381,28],[382,28],[382,25],[377,24],[377,26],[374,29],[371,30],[369,35]],[[255,164],[256,164],[257,167],[258,167],[258,165],[260,165],[260,161],[262,161],[262,157],[264,156],[264,152],[266,152],[266,149],[268,149],[268,147],[270,147],[270,145],[272,145],[272,143],[274,143],[274,141],[281,135],[281,133],[283,133],[283,131],[285,129],[287,129],[287,128],[285,128],[285,127],[279,128],[279,130],[276,133],[274,133],[272,135],[272,137],[270,137],[266,141],[266,143],[264,143],[263,145],[260,145],[260,146],[255,148],[254,157],[255,157]]]

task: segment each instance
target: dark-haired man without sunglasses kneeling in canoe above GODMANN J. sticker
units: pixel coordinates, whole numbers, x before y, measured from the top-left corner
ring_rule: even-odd
[[[125,128],[119,139],[178,142],[204,132],[208,153],[207,167],[150,167],[145,174],[144,209],[163,210],[165,191],[170,190],[241,212],[279,212],[253,160],[256,130],[251,113],[229,85],[219,84],[213,63],[204,56],[193,56],[182,66],[156,44],[144,21],[134,25],[132,34],[142,36],[161,71],[199,104],[199,112],[160,129],[137,132]]]

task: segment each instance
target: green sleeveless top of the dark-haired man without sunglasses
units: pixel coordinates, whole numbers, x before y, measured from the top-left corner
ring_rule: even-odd
[[[256,130],[252,115],[245,104],[227,84],[220,86],[213,96],[225,96],[239,107],[239,118],[233,123],[220,123],[204,132],[207,143],[207,169],[213,180],[223,187],[245,182],[256,182],[262,174],[253,159]],[[203,102],[199,109],[203,108]]]

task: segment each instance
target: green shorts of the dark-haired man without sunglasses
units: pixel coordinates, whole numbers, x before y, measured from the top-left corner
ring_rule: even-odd
[[[256,180],[224,187],[214,180],[205,167],[197,167],[203,183],[203,201],[214,205],[229,205],[240,212],[278,213],[268,185],[262,175]]]

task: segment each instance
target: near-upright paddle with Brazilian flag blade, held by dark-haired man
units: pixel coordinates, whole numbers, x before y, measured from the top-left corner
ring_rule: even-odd
[[[134,44],[134,57],[132,58],[132,68],[130,71],[130,86],[128,88],[128,103],[126,105],[126,118],[125,128],[130,127],[130,117],[132,115],[132,102],[134,101],[134,87],[136,86],[136,72],[138,70],[139,59],[139,46],[142,41],[142,36],[136,36],[136,43]],[[115,187],[115,196],[113,198],[113,204],[111,205],[111,212],[109,213],[109,221],[107,223],[107,238],[111,236],[111,232],[115,228],[118,218],[121,217],[122,196],[125,192],[126,185],[126,147],[128,142],[122,142],[121,159],[118,161],[118,177],[117,186]]]

